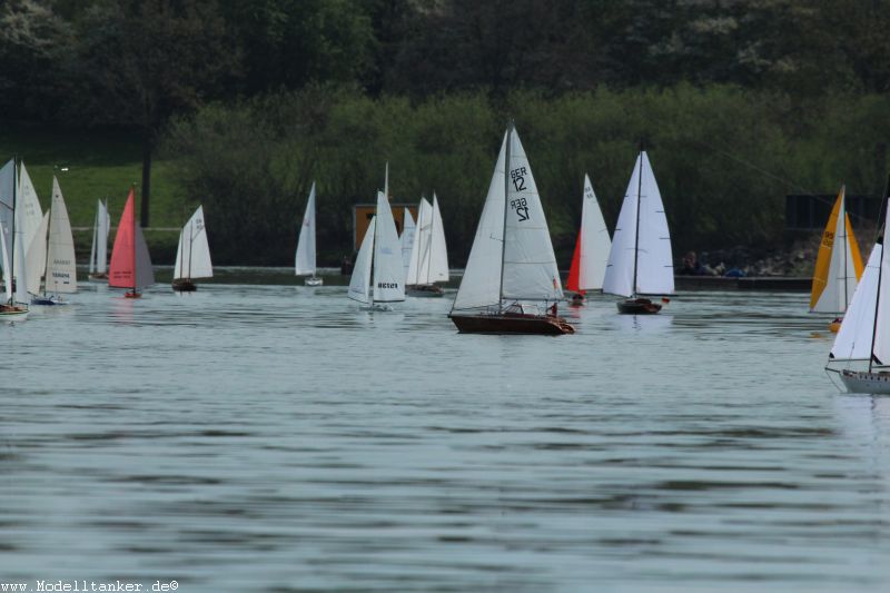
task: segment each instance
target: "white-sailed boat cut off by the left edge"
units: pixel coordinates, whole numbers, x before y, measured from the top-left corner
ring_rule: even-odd
[[[16,165],[16,159],[12,158],[0,168],[0,264],[3,266],[4,288],[0,319],[3,320],[22,320],[28,316],[23,216],[22,208],[18,205],[19,179]]]

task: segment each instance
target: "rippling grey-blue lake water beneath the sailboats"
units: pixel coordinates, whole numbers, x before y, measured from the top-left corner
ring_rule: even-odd
[[[82,286],[0,325],[0,582],[890,586],[890,398],[838,393],[808,295],[540,337],[458,335],[453,293]]]

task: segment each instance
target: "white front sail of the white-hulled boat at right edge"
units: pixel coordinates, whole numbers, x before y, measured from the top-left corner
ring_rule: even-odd
[[[870,357],[874,304],[878,299],[878,267],[881,265],[882,253],[881,244],[876,244],[843,316],[841,328],[834,337],[834,345],[831,347],[833,359],[868,360]]]

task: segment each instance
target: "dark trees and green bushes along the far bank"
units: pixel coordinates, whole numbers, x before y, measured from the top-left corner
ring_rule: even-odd
[[[406,197],[452,190],[463,245],[514,117],[560,233],[583,170],[616,199],[644,138],[681,241],[775,241],[787,190],[879,190],[888,24],[890,0],[3,0],[0,118],[132,130],[144,225],[161,149],[195,201],[265,184],[247,220],[318,177],[344,248],[388,157]]]

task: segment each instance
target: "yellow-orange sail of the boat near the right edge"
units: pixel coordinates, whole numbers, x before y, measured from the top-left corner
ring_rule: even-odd
[[[831,209],[831,216],[828,218],[825,230],[822,231],[822,243],[819,245],[819,255],[815,258],[815,271],[813,273],[812,293],[810,294],[811,310],[817,308],[819,299],[822,297],[825,289],[829,288],[830,278],[833,280],[832,286],[830,287],[831,293],[838,291],[837,285],[839,280],[839,273],[841,270],[832,270],[832,261],[835,261],[835,265],[846,266],[847,257],[849,256],[849,260],[852,261],[853,265],[853,273],[856,274],[857,281],[859,281],[859,278],[862,276],[862,256],[859,253],[859,244],[857,244],[856,237],[853,236],[853,229],[850,226],[850,217],[847,216],[847,210],[844,208],[844,194],[846,186],[841,187],[841,190],[838,194],[838,199],[834,201],[834,207]],[[843,234],[838,237],[840,234],[838,219],[841,216],[843,217]],[[846,239],[847,243],[844,251],[839,254],[840,257],[837,258],[832,257],[835,239]],[[839,245],[839,247],[843,246]],[[849,274],[849,270],[847,270],[847,274]],[[840,278],[840,280],[844,283],[842,289],[847,290],[848,287],[846,278]],[[850,297],[851,295],[849,297],[848,295],[844,295],[841,304],[842,307],[846,307]],[[828,298],[829,300],[838,299],[837,295],[833,294],[830,294]],[[841,313],[841,310],[838,310],[838,313]]]

